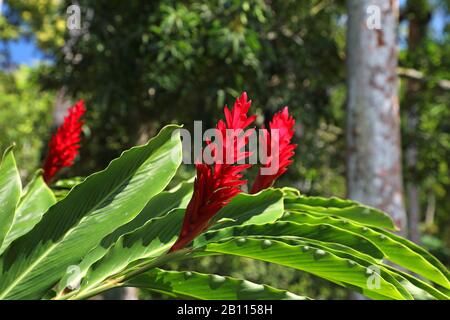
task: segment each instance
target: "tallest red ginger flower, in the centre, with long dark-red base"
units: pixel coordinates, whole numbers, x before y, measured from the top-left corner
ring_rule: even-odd
[[[245,133],[244,138],[228,137],[227,129],[245,130],[256,116],[247,117],[251,101],[247,101],[247,94],[244,92],[236,99],[231,111],[225,106],[225,122],[219,120],[217,129],[222,134],[222,157],[224,161],[215,161],[208,165],[204,163],[196,164],[197,177],[194,182],[194,193],[186,208],[184,222],[180,236],[170,251],[176,251],[189,244],[195,237],[208,228],[209,220],[231,199],[241,192],[239,188],[247,181],[241,180],[242,171],[249,168],[250,164],[235,163],[240,159],[247,158],[249,152],[240,151],[241,147],[247,144],[247,139],[252,130]],[[208,146],[215,152],[219,145],[208,142]],[[225,155],[233,147],[231,160],[226,161]],[[214,153],[214,152],[212,152]],[[229,163],[231,162],[231,163]]]

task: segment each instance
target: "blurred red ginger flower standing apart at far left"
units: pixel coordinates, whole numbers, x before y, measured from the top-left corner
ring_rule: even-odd
[[[44,180],[49,183],[64,167],[73,165],[80,148],[81,127],[80,118],[86,112],[84,101],[80,100],[69,108],[69,114],[58,128],[48,144],[47,157],[44,163]]]

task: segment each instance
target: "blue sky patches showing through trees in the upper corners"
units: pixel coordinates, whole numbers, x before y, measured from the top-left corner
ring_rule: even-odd
[[[405,2],[406,0],[400,0],[400,5],[403,5]],[[445,12],[438,11],[433,16],[431,26],[436,35],[442,33],[446,21],[447,23],[450,21],[450,16],[446,17]],[[19,39],[18,41],[11,41],[8,43],[8,46],[11,51],[12,61],[15,64],[33,65],[34,63],[44,59],[44,55],[36,47],[34,39]]]

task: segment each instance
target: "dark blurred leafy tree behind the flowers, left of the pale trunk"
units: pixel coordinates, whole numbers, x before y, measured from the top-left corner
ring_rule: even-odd
[[[61,5],[61,15],[68,4]],[[64,85],[71,95],[84,95],[91,106],[93,134],[78,167],[82,174],[104,167],[167,122],[190,128],[196,119],[210,127],[225,102],[242,90],[249,92],[261,116],[288,104],[298,118],[301,161],[291,169],[291,180],[307,192],[329,192],[321,185],[323,171],[305,168],[322,165],[343,173],[339,145],[328,147],[317,138],[337,142],[342,135],[337,129],[343,121],[337,111],[341,106],[331,101],[333,89],[343,81],[339,3],[79,5],[82,30],[67,32],[64,50],[54,49],[56,65],[47,84]],[[333,157],[324,156],[325,145]],[[342,185],[342,179],[336,181]]]

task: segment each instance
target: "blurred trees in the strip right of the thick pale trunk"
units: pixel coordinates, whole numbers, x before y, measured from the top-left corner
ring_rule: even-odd
[[[402,123],[404,175],[410,238],[449,263],[450,255],[450,1],[409,0],[402,10],[405,49],[400,64],[418,76],[403,81]],[[436,17],[438,19],[436,19]],[[442,29],[432,28],[436,20]],[[447,79],[447,81],[446,81]],[[422,228],[419,228],[419,227]],[[442,240],[438,240],[439,237]],[[440,243],[440,252],[437,243]],[[444,256],[446,258],[444,258]]]

